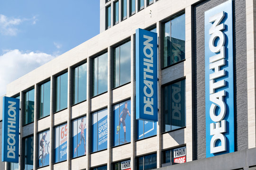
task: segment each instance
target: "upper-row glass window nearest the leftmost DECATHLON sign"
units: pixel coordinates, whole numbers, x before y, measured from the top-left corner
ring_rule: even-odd
[[[24,119],[23,125],[34,121],[35,89],[24,94]]]

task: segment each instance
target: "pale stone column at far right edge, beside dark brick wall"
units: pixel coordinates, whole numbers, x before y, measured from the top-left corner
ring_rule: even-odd
[[[256,147],[256,1],[246,0],[248,148]]]

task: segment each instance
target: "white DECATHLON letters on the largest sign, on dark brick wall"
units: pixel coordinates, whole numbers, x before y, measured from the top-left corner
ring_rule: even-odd
[[[215,93],[216,89],[226,85],[225,80],[219,80],[215,82],[216,78],[223,77],[226,75],[224,69],[220,69],[221,66],[225,66],[225,34],[222,32],[225,28],[225,24],[221,23],[222,19],[225,17],[224,11],[210,17],[209,22],[212,26],[209,30],[210,40],[209,48],[210,51],[215,54],[210,57],[209,69],[214,70],[214,73],[210,74],[210,101],[212,102],[210,106],[210,119],[214,123],[210,123],[210,153],[219,153],[226,151],[226,136],[223,134],[226,132],[226,120],[223,120],[226,115],[226,103],[224,102],[224,97],[226,96],[225,90],[221,90]],[[219,41],[216,43],[216,41]],[[219,107],[219,114],[216,114],[216,108]],[[207,125],[209,126],[209,125]],[[220,145],[216,146],[216,142],[220,141]]]

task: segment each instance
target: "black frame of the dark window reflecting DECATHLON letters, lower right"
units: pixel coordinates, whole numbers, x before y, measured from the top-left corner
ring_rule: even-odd
[[[166,86],[169,86],[169,85],[173,85],[173,84],[175,84],[175,83],[177,83],[177,82],[181,82],[181,81],[185,81],[185,89],[184,89],[184,94],[185,94],[185,99],[186,99],[186,76],[183,76],[183,77],[180,77],[180,78],[178,78],[178,79],[175,79],[175,80],[173,80],[173,81],[171,81],[171,82],[168,82],[168,83],[165,83],[164,85],[161,85],[161,93],[162,94],[164,94],[164,88],[166,87]],[[164,98],[165,98],[165,95],[162,95],[162,101],[164,101]],[[162,104],[161,104],[161,107],[163,108],[162,109],[162,117],[164,118],[164,119],[162,119],[162,121],[161,121],[161,124],[162,124],[162,132],[161,132],[161,134],[165,134],[165,133],[169,133],[169,132],[173,132],[173,131],[177,131],[177,130],[180,130],[180,129],[183,129],[183,128],[186,128],[186,100],[184,101],[184,105],[185,105],[185,126],[183,126],[183,127],[179,127],[179,128],[175,128],[175,129],[171,129],[171,130],[168,130],[168,131],[165,131],[165,115],[164,115],[164,102],[162,102]],[[172,125],[171,125],[172,126]]]

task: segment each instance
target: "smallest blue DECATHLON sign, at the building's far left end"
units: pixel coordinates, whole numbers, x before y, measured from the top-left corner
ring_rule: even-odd
[[[2,161],[18,163],[19,99],[3,97]]]

